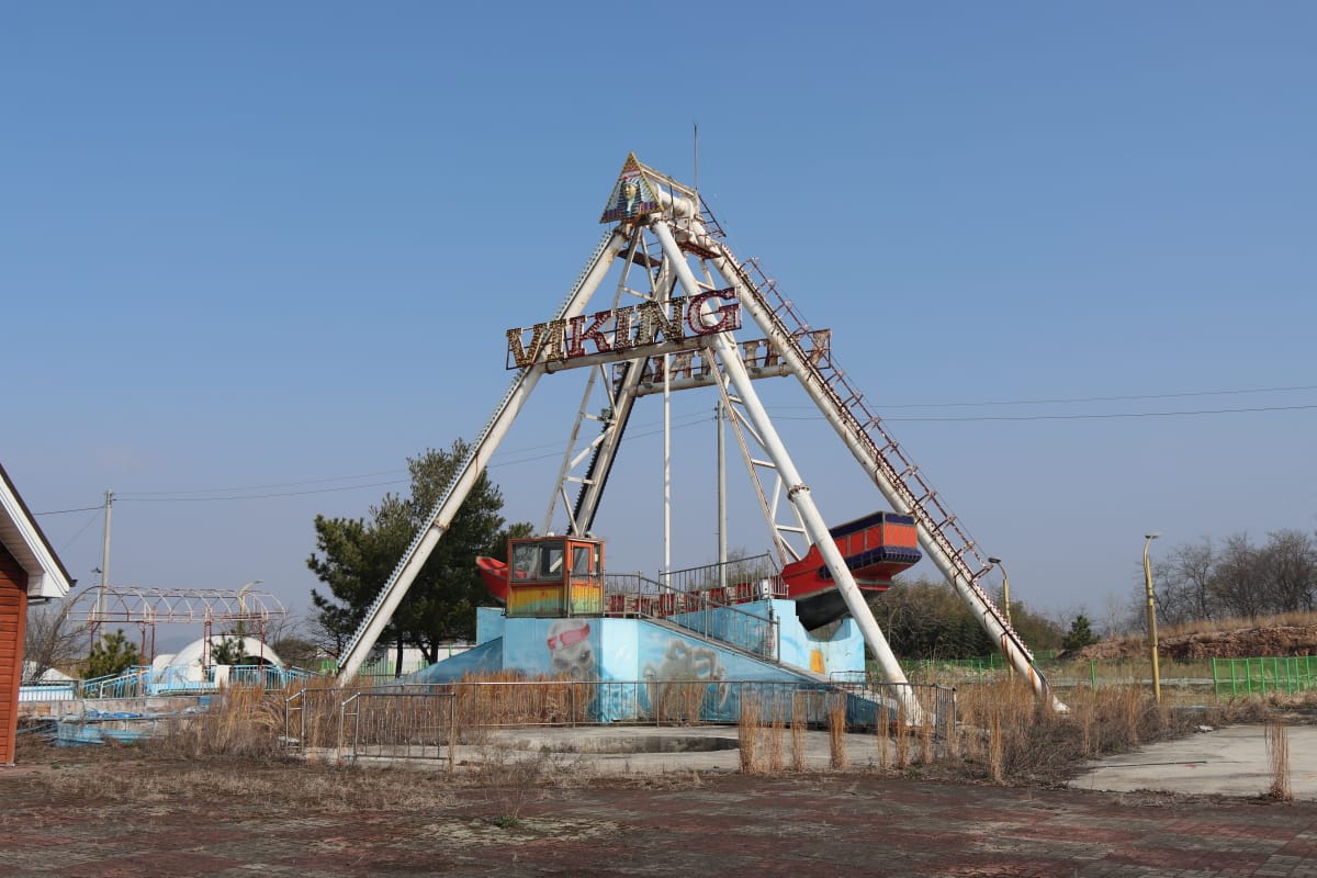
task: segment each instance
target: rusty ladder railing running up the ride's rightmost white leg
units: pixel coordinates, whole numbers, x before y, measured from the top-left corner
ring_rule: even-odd
[[[777,337],[773,341],[780,345],[788,345],[794,350],[799,362],[806,369],[805,379],[819,387],[823,395],[828,398],[836,416],[842,419],[847,429],[868,452],[869,458],[877,467],[876,471],[881,473],[893,490],[905,500],[909,513],[923,525],[923,530],[928,534],[928,538],[936,542],[951,559],[967,587],[981,602],[984,611],[993,616],[1031,662],[1033,653],[1030,653],[1029,646],[1010,623],[1006,621],[1005,615],[988,596],[988,592],[979,586],[980,577],[992,567],[979,553],[975,541],[960,527],[956,516],[943,505],[932,487],[919,475],[919,467],[901,450],[896,438],[884,428],[882,420],[864,405],[863,394],[851,387],[844,373],[832,362],[831,355],[822,358],[809,355],[801,344],[803,338],[811,338],[806,332],[810,329],[809,324],[801,319],[792,303],[777,291],[777,286],[764,274],[759,262],[747,259],[743,263],[732,255],[724,241],[719,241],[718,245],[723,251],[722,255],[727,265],[736,271],[738,280],[757,299],[764,313],[770,316],[777,330]],[[752,278],[751,270],[759,275],[759,282]],[[776,297],[776,301],[770,301],[765,296],[764,290],[768,290]],[[788,319],[794,323],[794,328],[788,324]],[[972,557],[979,565],[977,570],[971,566],[967,555]]]

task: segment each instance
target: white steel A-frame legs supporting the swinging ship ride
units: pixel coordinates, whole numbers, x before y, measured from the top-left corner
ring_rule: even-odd
[[[665,300],[672,291],[680,286],[689,296],[695,296],[702,291],[712,288],[710,266],[722,278],[727,287],[736,291],[741,307],[751,315],[753,321],[765,333],[770,344],[777,345],[778,353],[788,370],[794,374],[811,400],[824,415],[834,430],[839,434],[856,459],[880,488],[884,498],[898,512],[913,515],[919,532],[919,542],[925,552],[948,579],[960,596],[975,609],[980,623],[998,644],[1008,661],[1027,679],[1031,681],[1035,692],[1046,698],[1058,710],[1065,710],[1033,662],[1033,656],[1027,646],[1002,617],[986,592],[979,586],[979,579],[992,569],[985,565],[976,544],[968,538],[955,516],[946,511],[938,500],[936,494],[926,484],[918,473],[918,467],[909,462],[900,446],[882,426],[880,419],[869,413],[863,404],[863,395],[855,392],[846,380],[844,373],[830,362],[820,366],[817,358],[807,350],[809,326],[799,321],[792,303],[780,296],[774,301],[776,287],[763,274],[753,262],[740,263],[722,241],[722,230],[718,228],[712,215],[705,209],[698,195],[672,178],[668,178],[653,168],[639,165],[633,157],[628,157],[628,168],[639,168],[645,183],[657,196],[660,209],[633,220],[622,220],[610,232],[606,232],[577,283],[569,291],[560,307],[556,319],[569,320],[579,316],[585,304],[594,294],[607,272],[612,258],[623,257],[627,265],[639,263],[652,269],[655,259],[658,259],[658,275],[647,271],[651,278],[649,300]],[[620,180],[619,180],[620,182]],[[648,229],[658,242],[658,251],[651,255],[649,249],[639,247],[640,232]],[[687,263],[687,255],[699,259],[706,284],[702,287],[695,279]],[[761,280],[752,278],[752,271],[759,272]],[[619,295],[624,288],[624,279],[619,282]],[[641,294],[643,295],[643,294]],[[794,320],[795,326],[790,326],[788,320]],[[690,349],[685,345],[681,349]],[[849,570],[846,567],[836,546],[828,533],[827,525],[818,513],[810,496],[809,486],[797,471],[785,446],[782,446],[776,429],[763,404],[759,401],[751,386],[751,376],[741,363],[734,340],[726,333],[716,333],[703,338],[701,345],[711,349],[716,354],[720,365],[722,392],[728,395],[728,388],[735,390],[735,401],[740,404],[741,420],[752,430],[759,445],[768,453],[772,469],[777,471],[780,486],[785,486],[785,495],[795,513],[798,521],[793,530],[803,530],[810,542],[819,546],[824,563],[832,570],[838,583],[838,590],[846,600],[847,608],[856,619],[864,634],[865,642],[878,661],[884,675],[893,682],[903,682],[905,677],[896,657],[892,654],[877,623],[873,620],[863,595],[856,587]],[[664,353],[672,350],[672,345],[665,342]],[[644,355],[656,353],[647,350]],[[644,355],[612,355],[586,357],[589,362],[577,362],[573,366],[598,365],[602,362],[630,359],[631,366],[623,376],[622,392],[614,398],[605,420],[605,430],[599,440],[591,444],[594,453],[591,471],[594,479],[581,479],[582,488],[578,496],[576,511],[568,508],[570,528],[573,532],[587,530],[593,521],[594,511],[598,508],[602,496],[603,483],[607,479],[607,470],[616,455],[616,448],[624,430],[626,420],[630,416],[630,407],[635,400],[635,386],[640,382],[640,363]],[[461,507],[466,494],[470,491],[479,473],[485,469],[490,455],[498,448],[499,441],[506,436],[518,412],[524,405],[527,398],[537,383],[539,378],[548,371],[557,371],[562,363],[551,363],[537,359],[519,370],[514,378],[503,400],[498,404],[494,415],[486,423],[478,440],[457,471],[453,482],[445,490],[443,498],[436,504],[429,516],[429,521],[415,536],[407,553],[399,561],[390,581],[377,595],[375,602],[367,609],[353,640],[345,650],[338,665],[340,682],[350,679],[366,654],[374,646],[381,632],[402,602],[412,581],[429,555],[429,552],[443,537],[449,527],[453,515]],[[591,376],[591,380],[594,378]],[[666,375],[665,375],[666,380]],[[589,398],[590,388],[586,388]],[[622,409],[619,412],[619,408]],[[582,413],[585,404],[582,404]],[[579,433],[581,421],[573,430],[572,446]],[[583,459],[583,455],[573,458],[573,448],[568,448],[564,457],[560,482],[553,499],[551,499],[547,521],[552,519],[558,494],[566,504],[565,483],[570,469]],[[605,461],[602,473],[597,470],[597,463]],[[747,454],[747,459],[748,454]],[[774,500],[778,496],[774,490]],[[761,490],[763,496],[763,490]],[[547,525],[548,527],[548,525]],[[780,550],[782,549],[782,528],[778,528]],[[977,563],[977,566],[975,566]]]

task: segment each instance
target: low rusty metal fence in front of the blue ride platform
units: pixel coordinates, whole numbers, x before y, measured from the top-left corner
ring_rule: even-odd
[[[955,690],[902,684],[928,733],[951,740]],[[906,721],[898,686],[857,674],[830,683],[765,681],[512,681],[399,684],[369,690],[302,688],[284,699],[283,741],[292,752],[348,757],[454,760],[454,749],[493,729],[578,725],[728,725],[755,706],[765,725],[824,728],[840,706],[852,728]]]

